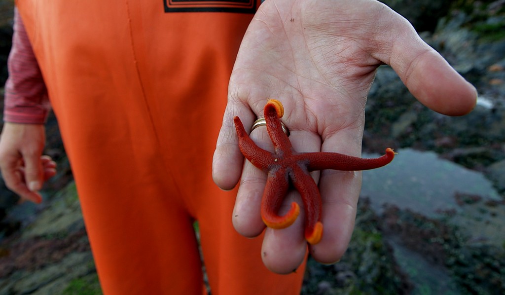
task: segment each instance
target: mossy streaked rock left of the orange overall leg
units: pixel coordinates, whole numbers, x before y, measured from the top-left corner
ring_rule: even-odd
[[[100,294],[75,184],[53,198],[37,218],[0,247],[0,295],[73,294],[76,284]]]

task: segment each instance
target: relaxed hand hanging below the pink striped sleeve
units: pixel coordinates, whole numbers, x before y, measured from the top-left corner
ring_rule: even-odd
[[[21,201],[42,202],[38,192],[56,174],[56,163],[41,156],[45,144],[43,125],[5,123],[0,136],[0,170],[9,189]]]

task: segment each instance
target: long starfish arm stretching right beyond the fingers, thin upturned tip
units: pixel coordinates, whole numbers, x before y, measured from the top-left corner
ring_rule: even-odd
[[[304,160],[307,163],[309,171],[334,169],[342,171],[358,171],[375,169],[389,164],[393,161],[394,151],[389,147],[386,149],[386,154],[373,159],[365,159],[347,156],[338,153],[305,153],[295,155],[299,161]]]

